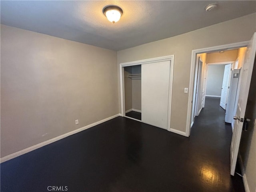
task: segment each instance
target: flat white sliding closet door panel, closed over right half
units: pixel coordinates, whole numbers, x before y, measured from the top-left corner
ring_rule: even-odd
[[[142,122],[167,129],[170,61],[142,64]]]

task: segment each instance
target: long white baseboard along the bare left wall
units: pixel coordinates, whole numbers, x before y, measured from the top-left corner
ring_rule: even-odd
[[[98,124],[104,123],[104,122],[106,122],[106,121],[108,121],[108,120],[111,120],[111,119],[114,119],[114,118],[116,118],[116,117],[118,117],[118,116],[122,116],[122,114],[116,114],[116,115],[114,115],[114,116],[108,117],[108,118],[106,118],[106,119],[100,120],[100,121],[98,121],[98,122],[92,123],[92,124],[90,124],[90,125],[86,125],[86,126],[84,126],[84,127],[82,127],[82,128],[76,129],[76,130],[74,130],[74,131],[68,132],[68,133],[66,133],[66,134],[60,135],[60,136],[58,136],[58,137],[52,138],[52,139],[47,140],[47,141],[44,141],[44,142],[42,142],[42,143],[36,144],[36,145],[31,146],[31,147],[29,147],[29,148],[23,149],[23,150],[18,151],[18,152],[16,152],[16,153],[10,154],[10,155],[5,156],[5,157],[2,157],[2,158],[0,159],[0,162],[2,163],[2,162],[5,162],[5,161],[8,161],[8,160],[10,160],[10,159],[16,158],[16,157],[18,157],[18,156],[20,156],[20,155],[23,155],[23,154],[28,153],[28,152],[30,152],[30,151],[36,150],[36,149],[38,149],[38,148],[40,148],[40,147],[46,146],[46,145],[51,144],[51,143],[53,143],[53,142],[56,142],[56,141],[58,141],[58,140],[60,140],[60,139],[63,139],[63,138],[68,137],[68,136],[70,136],[70,135],[76,134],[76,133],[78,133],[78,132],[81,132],[81,131],[83,131],[83,130],[86,130],[86,129],[88,129],[88,128],[91,128],[91,127],[93,127],[93,126],[96,126],[96,125],[98,125]]]

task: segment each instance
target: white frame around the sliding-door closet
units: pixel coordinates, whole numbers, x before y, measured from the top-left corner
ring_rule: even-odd
[[[162,57],[156,57],[156,58],[150,58],[150,59],[144,59],[144,60],[137,60],[132,62],[125,62],[120,63],[120,96],[121,96],[121,116],[134,119],[131,117],[128,117],[125,115],[125,93],[124,93],[124,67],[128,66],[134,66],[134,65],[142,65],[142,64],[150,64],[150,63],[156,63],[156,62],[162,62],[162,61],[170,61],[170,80],[169,80],[169,98],[168,98],[168,122],[167,122],[167,130],[174,132],[173,129],[170,127],[171,123],[171,108],[172,108],[172,82],[173,82],[173,70],[174,70],[174,55],[168,55],[168,56],[162,56]]]

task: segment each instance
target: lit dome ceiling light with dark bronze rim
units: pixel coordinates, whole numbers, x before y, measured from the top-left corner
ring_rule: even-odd
[[[106,16],[106,18],[112,23],[118,22],[123,14],[123,10],[115,5],[109,5],[104,7],[102,12]]]

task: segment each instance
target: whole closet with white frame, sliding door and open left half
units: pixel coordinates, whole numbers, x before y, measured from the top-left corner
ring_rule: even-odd
[[[175,132],[170,127],[174,55],[120,63],[123,117]]]

